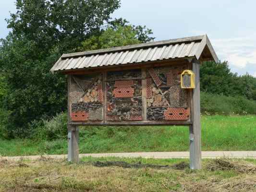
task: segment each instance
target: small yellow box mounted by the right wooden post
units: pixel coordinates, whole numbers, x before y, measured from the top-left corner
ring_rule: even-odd
[[[191,70],[184,70],[181,74],[181,87],[183,89],[195,88],[195,73]]]

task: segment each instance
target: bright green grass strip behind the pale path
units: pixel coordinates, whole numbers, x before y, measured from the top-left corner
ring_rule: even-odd
[[[256,116],[202,116],[203,151],[256,150]],[[0,140],[1,156],[66,154],[66,139]],[[80,153],[188,151],[187,127],[84,127]]]

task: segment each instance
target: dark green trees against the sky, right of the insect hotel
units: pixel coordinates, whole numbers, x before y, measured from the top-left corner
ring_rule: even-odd
[[[201,91],[224,96],[244,96],[256,100],[256,78],[232,73],[228,62],[204,62],[200,67]]]

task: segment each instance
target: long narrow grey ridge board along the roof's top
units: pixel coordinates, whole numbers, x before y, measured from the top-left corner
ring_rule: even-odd
[[[169,45],[169,44],[176,44],[176,43],[199,41],[199,40],[202,40],[204,37],[205,37],[205,35],[191,36],[191,37],[169,39],[169,40],[163,40],[163,41],[155,41],[155,42],[150,42],[150,43],[141,43],[141,44],[128,45],[128,46],[115,47],[115,48],[105,48],[105,49],[97,49],[97,50],[90,50],[90,51],[83,51],[83,52],[68,53],[68,54],[63,54],[61,56],[61,58],[65,59],[65,58],[79,57],[79,56],[85,56],[85,55],[131,50],[131,49],[136,49],[136,48],[148,48],[148,47],[155,47],[155,46],[159,46],[159,45]]]

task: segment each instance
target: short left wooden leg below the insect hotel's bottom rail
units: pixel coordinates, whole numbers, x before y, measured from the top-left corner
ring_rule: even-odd
[[[79,128],[68,125],[68,161],[79,162]]]

